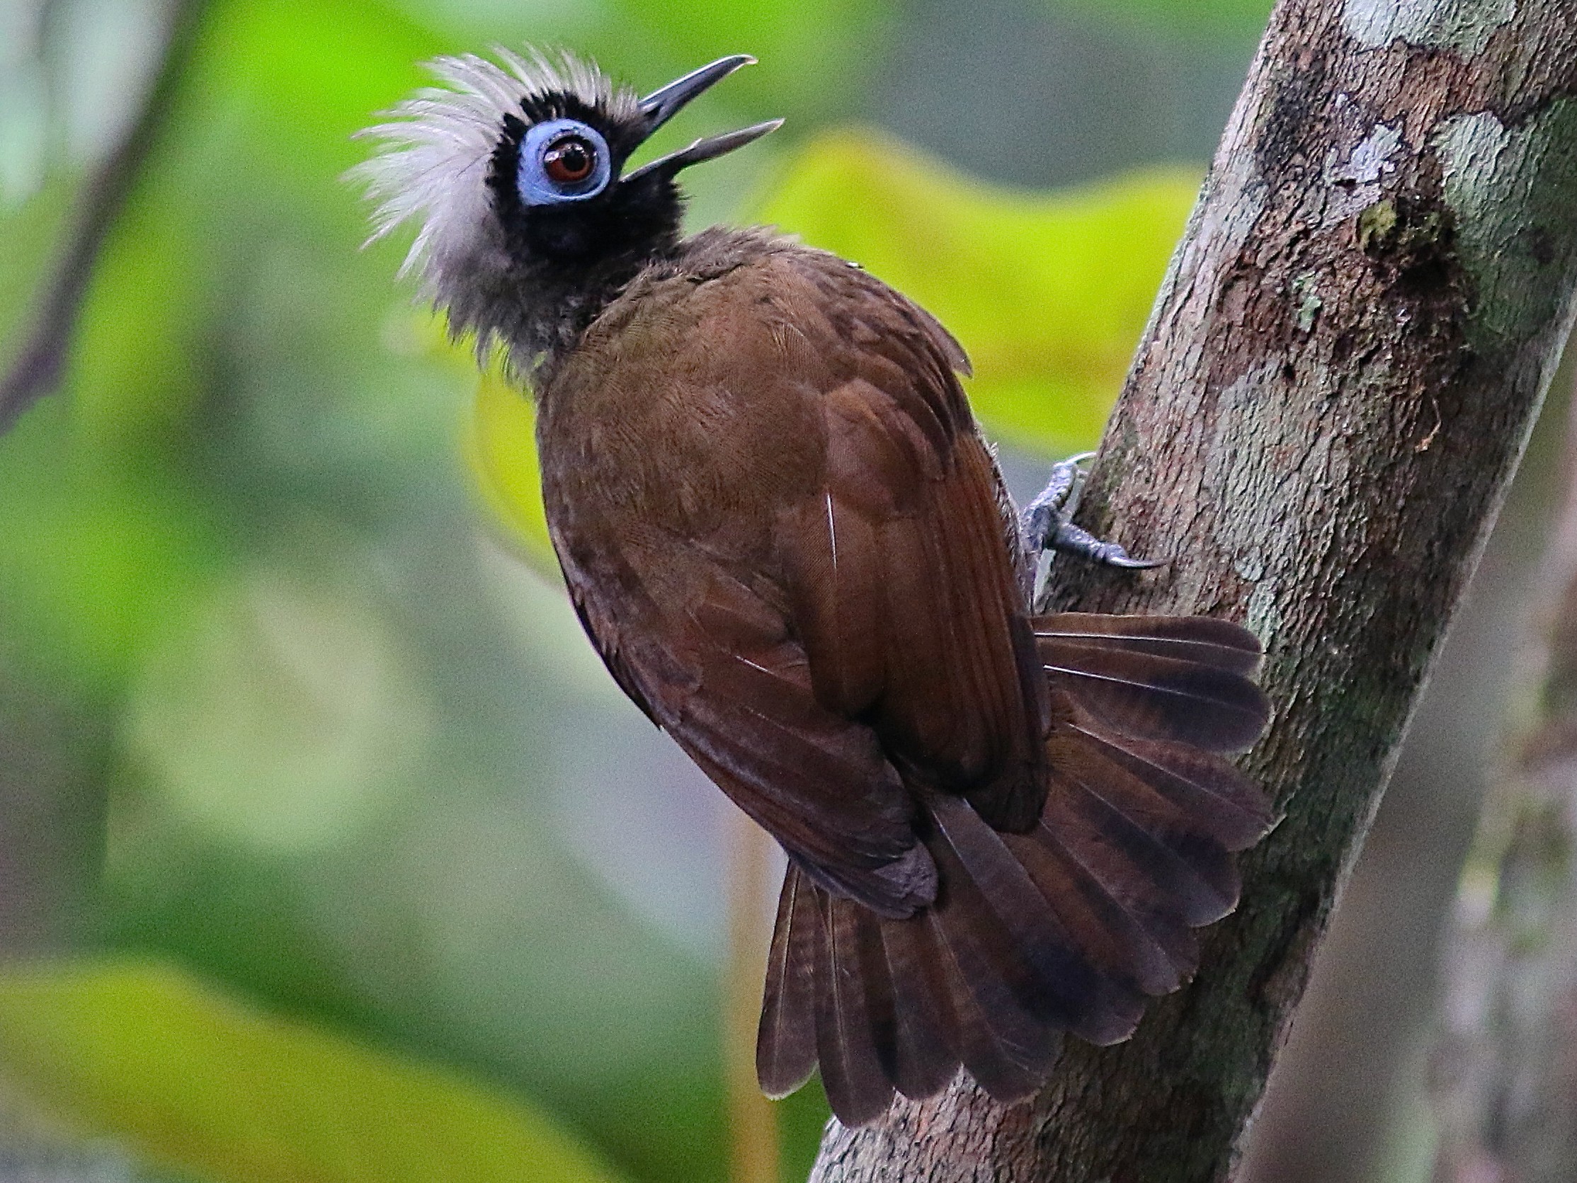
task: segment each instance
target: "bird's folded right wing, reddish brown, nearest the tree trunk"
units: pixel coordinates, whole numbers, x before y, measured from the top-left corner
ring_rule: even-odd
[[[1046,680],[1000,480],[929,315],[830,256],[807,278],[831,371],[825,481],[782,514],[792,618],[817,697],[869,719],[910,787],[1028,830],[1044,800]]]

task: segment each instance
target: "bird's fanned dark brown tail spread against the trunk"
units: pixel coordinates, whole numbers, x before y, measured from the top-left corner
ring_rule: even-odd
[[[757,1041],[770,1096],[820,1063],[833,1112],[858,1126],[962,1065],[998,1101],[1022,1099],[1063,1032],[1132,1035],[1145,1000],[1194,973],[1192,929],[1236,907],[1232,852],[1274,823],[1222,757],[1269,718],[1251,681],[1258,640],[1205,617],[1033,625],[1055,703],[1039,822],[998,833],[962,798],[926,793],[940,888],[907,920],[788,868]]]

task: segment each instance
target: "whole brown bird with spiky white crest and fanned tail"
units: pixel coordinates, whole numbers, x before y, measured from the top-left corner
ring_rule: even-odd
[[[1151,565],[1071,522],[1083,457],[1019,514],[934,315],[771,229],[683,232],[678,174],[781,120],[631,159],[752,62],[642,98],[561,50],[437,58],[361,132],[369,241],[416,224],[418,298],[535,399],[609,674],[787,855],[762,1090],[818,1069],[863,1126],[962,1069],[1011,1104],[1066,1035],[1131,1036],[1236,907],[1276,820],[1228,759],[1269,719],[1262,645],[1036,614],[1046,549]]]

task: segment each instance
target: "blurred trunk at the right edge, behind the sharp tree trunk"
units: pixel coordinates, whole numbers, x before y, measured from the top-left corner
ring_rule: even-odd
[[[1437,1183],[1564,1183],[1577,1162],[1577,402],[1568,492],[1446,956]]]

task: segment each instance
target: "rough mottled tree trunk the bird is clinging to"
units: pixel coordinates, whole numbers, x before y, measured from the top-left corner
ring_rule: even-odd
[[[814,1180],[1221,1180],[1568,333],[1577,0],[1282,0],[1107,427],[1055,606],[1266,642],[1287,811],[1203,967],[1011,1109],[967,1082]]]

